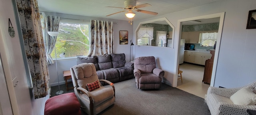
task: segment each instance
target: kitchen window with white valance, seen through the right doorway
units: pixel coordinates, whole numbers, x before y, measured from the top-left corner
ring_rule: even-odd
[[[217,41],[218,32],[214,33],[202,33],[201,35],[201,46],[203,47],[214,47],[214,43]]]

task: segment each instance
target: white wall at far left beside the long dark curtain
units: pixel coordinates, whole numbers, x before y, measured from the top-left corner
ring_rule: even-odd
[[[46,97],[40,99],[30,97],[22,51],[20,50],[19,30],[16,25],[17,18],[14,14],[12,0],[0,1],[0,53],[13,113],[14,115],[43,115]],[[8,33],[8,18],[10,18],[15,30],[14,38],[11,38]],[[14,79],[15,77],[16,79]],[[16,81],[18,83],[14,87],[14,83],[12,82]]]

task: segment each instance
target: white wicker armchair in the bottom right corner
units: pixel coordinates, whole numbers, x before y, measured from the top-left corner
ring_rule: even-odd
[[[252,90],[256,87],[256,81],[244,87],[249,86]],[[212,115],[248,115],[247,109],[256,110],[256,105],[235,105],[230,97],[236,93],[238,88],[218,88],[209,87],[205,95],[207,103]]]

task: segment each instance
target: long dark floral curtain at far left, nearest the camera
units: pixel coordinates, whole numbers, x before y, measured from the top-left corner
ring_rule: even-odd
[[[36,0],[16,0],[34,98],[48,95],[49,72],[46,62],[40,14]]]

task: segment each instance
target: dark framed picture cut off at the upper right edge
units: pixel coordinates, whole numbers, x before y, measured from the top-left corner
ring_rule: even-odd
[[[256,10],[250,10],[246,29],[256,29]]]

